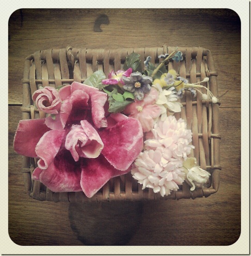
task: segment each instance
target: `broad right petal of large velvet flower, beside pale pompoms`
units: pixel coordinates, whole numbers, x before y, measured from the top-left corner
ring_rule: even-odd
[[[121,115],[117,116],[118,120]],[[104,143],[102,154],[116,169],[125,171],[143,147],[141,124],[135,118],[122,118],[116,125],[99,132]]]

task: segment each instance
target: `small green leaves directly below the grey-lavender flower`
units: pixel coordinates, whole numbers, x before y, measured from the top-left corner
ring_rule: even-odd
[[[103,89],[108,94],[109,109],[111,113],[118,113],[125,109],[127,105],[133,102],[134,95],[125,91],[123,93],[118,92],[116,87],[113,87],[112,91]]]

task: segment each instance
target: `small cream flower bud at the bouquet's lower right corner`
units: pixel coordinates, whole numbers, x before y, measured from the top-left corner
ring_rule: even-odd
[[[190,157],[184,161],[183,171],[186,174],[186,182],[191,186],[191,191],[194,191],[196,187],[203,187],[211,175],[199,166],[196,166],[196,158],[194,157]]]

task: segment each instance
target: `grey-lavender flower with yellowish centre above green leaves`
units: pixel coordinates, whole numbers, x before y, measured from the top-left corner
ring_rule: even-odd
[[[150,83],[153,82],[153,78],[135,72],[130,77],[122,77],[122,81],[124,83],[123,88],[132,92],[136,100],[141,101],[144,95],[151,90]]]

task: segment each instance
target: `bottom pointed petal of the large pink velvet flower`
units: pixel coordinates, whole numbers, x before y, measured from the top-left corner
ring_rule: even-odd
[[[129,169],[124,172],[116,170],[101,154],[96,159],[85,161],[80,184],[86,196],[91,198],[109,179],[128,172]]]

